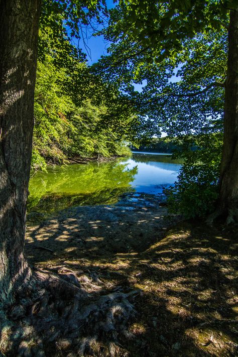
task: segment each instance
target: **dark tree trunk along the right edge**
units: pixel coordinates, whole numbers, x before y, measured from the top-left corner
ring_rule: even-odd
[[[236,214],[238,206],[238,12],[230,11],[225,82],[224,143],[220,169],[219,208]]]

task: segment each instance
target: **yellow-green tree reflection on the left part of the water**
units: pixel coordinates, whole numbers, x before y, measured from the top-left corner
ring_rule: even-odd
[[[50,213],[76,205],[111,204],[132,183],[137,166],[128,168],[127,160],[88,165],[75,164],[48,168],[33,174],[29,184],[28,212]]]

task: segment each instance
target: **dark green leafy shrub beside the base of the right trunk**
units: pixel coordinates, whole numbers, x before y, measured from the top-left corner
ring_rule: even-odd
[[[215,208],[218,197],[222,135],[205,134],[183,138],[187,149],[176,157],[184,159],[174,187],[167,191],[169,209],[186,218],[204,217]],[[192,145],[197,150],[191,151]]]

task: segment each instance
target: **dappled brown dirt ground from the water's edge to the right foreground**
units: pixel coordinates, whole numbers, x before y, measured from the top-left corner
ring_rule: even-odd
[[[184,222],[159,202],[132,193],[115,205],[73,207],[31,222],[28,260],[79,277],[95,272],[98,294],[138,291],[120,356],[238,356],[237,229]]]

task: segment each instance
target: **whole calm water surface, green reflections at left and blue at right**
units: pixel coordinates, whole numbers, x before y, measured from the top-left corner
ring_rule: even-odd
[[[50,213],[70,206],[111,204],[126,192],[161,193],[181,164],[170,155],[134,153],[130,159],[49,167],[32,175],[28,212]]]

